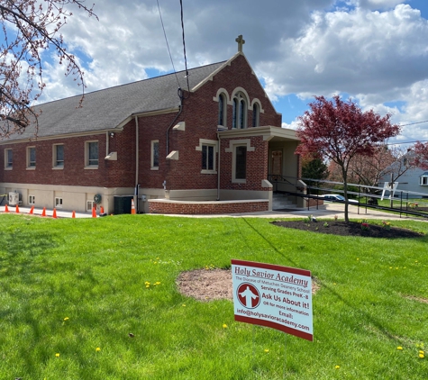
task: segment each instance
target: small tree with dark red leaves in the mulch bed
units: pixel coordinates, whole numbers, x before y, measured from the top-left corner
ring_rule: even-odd
[[[301,142],[296,154],[317,153],[341,168],[345,222],[349,222],[348,174],[352,159],[372,156],[379,145],[400,132],[400,127],[390,122],[390,114],[381,117],[373,110],[362,112],[358,104],[351,99],[344,102],[339,95],[332,100],[315,96],[309,107],[299,117],[296,132]]]

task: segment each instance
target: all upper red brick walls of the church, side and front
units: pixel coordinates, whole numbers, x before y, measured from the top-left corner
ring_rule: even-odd
[[[178,122],[186,122],[186,131],[169,130],[169,151],[178,150],[179,159],[167,160],[167,131],[178,113],[167,113],[139,118],[139,183],[141,187],[162,188],[167,181],[168,190],[216,189],[217,174],[201,174],[202,152],[196,150],[199,139],[217,140],[218,103],[213,97],[223,87],[232,95],[237,86],[245,88],[250,104],[258,98],[264,113],[260,113],[260,125],[281,126],[281,116],[276,113],[255,75],[251,73],[246,59],[234,59],[231,66],[223,68],[211,81],[207,81],[196,93],[183,100]],[[252,111],[248,111],[251,125]],[[227,105],[227,126],[232,129],[232,105]],[[117,161],[105,160],[106,135],[104,133],[85,137],[58,140],[38,140],[0,146],[0,181],[11,183],[45,185],[96,185],[105,187],[131,187],[135,185],[135,121],[126,124],[122,132],[109,137],[109,152],[117,151]],[[99,165],[96,170],[85,169],[85,141],[98,140]],[[150,141],[159,140],[159,170],[150,170]],[[64,169],[52,169],[52,145],[64,143]],[[26,148],[36,147],[36,168],[26,170]],[[267,190],[260,188],[261,179],[268,175],[268,142],[261,137],[251,138],[256,150],[248,152],[247,183],[232,184],[232,153],[225,153],[226,141],[222,142],[221,187],[223,189]],[[14,150],[13,170],[5,167],[5,148]],[[217,167],[218,170],[218,167]]]

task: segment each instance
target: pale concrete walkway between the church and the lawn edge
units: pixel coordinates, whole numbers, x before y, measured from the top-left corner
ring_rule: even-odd
[[[16,213],[15,206],[9,206],[9,213]],[[23,214],[30,213],[29,207],[19,207],[19,212]],[[5,206],[0,206],[0,213],[5,213]],[[41,216],[42,209],[34,208],[33,214]],[[52,217],[53,210],[46,210],[46,216]],[[75,213],[76,218],[92,218],[92,213]],[[159,215],[159,214],[153,214]],[[181,216],[181,217],[193,217],[193,218],[214,218],[214,217],[229,217],[229,218],[305,218],[308,215],[313,215],[318,219],[333,219],[337,215],[338,219],[343,220],[344,216],[344,205],[343,204],[334,204],[327,203],[322,206],[314,206],[309,210],[298,211],[271,211],[271,212],[260,212],[260,213],[233,213],[233,214],[209,214],[209,215],[167,215],[167,216]],[[72,212],[69,211],[59,211],[57,210],[58,218],[71,218]],[[358,207],[355,205],[349,206],[349,217],[351,220],[362,220],[362,219],[378,219],[378,220],[388,220],[388,221],[400,221],[400,220],[414,220],[428,222],[427,219],[414,218],[411,216],[406,216],[402,214],[400,217],[399,213],[383,213],[375,209],[367,209],[364,207]]]

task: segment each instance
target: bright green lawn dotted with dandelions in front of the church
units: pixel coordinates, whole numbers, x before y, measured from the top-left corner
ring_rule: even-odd
[[[428,232],[426,222],[392,225]],[[428,373],[419,357],[428,347],[428,236],[346,238],[257,218],[2,214],[0,241],[2,380]],[[178,293],[181,271],[230,267],[231,258],[312,271],[314,342],[235,322],[229,301]]]

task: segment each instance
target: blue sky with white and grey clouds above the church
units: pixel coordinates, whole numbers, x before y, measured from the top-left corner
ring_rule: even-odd
[[[178,0],[159,0],[171,56],[184,69]],[[296,128],[314,95],[342,95],[407,126],[394,142],[428,140],[426,0],[183,0],[189,68],[243,51],[279,113]],[[172,70],[156,0],[96,2],[61,30],[86,71],[87,91]],[[48,57],[47,57],[48,58]],[[76,95],[47,59],[41,100]]]

